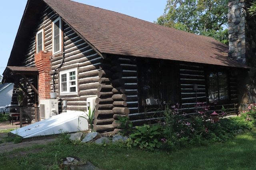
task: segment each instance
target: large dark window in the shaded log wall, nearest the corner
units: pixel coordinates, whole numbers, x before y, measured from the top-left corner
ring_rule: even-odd
[[[177,71],[173,63],[138,60],[140,111],[178,102]]]

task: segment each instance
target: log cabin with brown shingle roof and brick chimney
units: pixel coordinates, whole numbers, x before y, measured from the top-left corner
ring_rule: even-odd
[[[237,113],[250,68],[228,50],[210,37],[71,0],[28,0],[2,83],[20,86],[27,105],[56,92],[59,113],[86,111],[95,97],[94,129],[117,133],[119,116],[134,126],[156,123],[166,104],[193,112],[205,102]]]

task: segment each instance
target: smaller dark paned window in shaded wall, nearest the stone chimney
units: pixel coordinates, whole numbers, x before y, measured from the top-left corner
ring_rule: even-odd
[[[210,72],[208,74],[209,102],[228,100],[228,80],[226,72]]]

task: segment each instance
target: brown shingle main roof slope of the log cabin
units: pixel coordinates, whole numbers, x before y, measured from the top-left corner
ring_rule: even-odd
[[[70,0],[44,2],[100,53],[245,67],[227,57],[228,46],[210,37]]]

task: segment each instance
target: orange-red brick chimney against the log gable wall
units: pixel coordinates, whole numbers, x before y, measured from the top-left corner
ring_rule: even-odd
[[[35,63],[36,68],[39,72],[38,77],[38,93],[39,93],[39,100],[40,99],[50,99],[50,92],[51,92],[51,57],[52,52],[50,51],[40,51],[39,53],[35,54]]]

